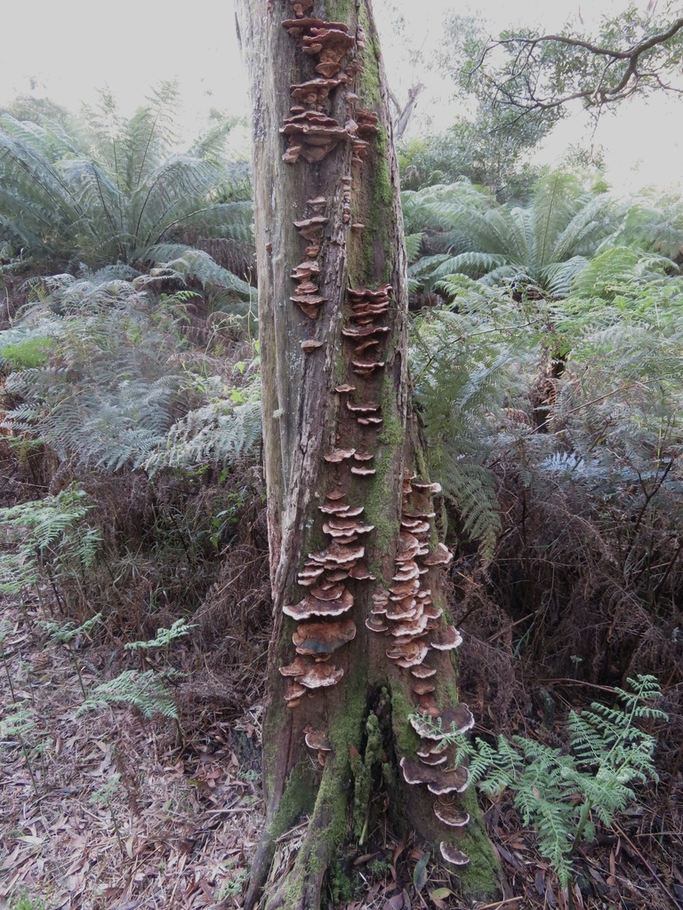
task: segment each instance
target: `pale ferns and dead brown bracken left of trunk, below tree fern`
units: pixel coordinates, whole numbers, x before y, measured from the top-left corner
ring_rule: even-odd
[[[238,563],[250,582],[265,563],[259,342],[248,319],[173,290],[179,280],[30,279],[0,336],[12,503],[0,585],[79,624],[97,612],[97,642],[145,641],[202,611],[208,639],[213,612],[254,593],[247,583],[219,602],[229,552],[249,552]],[[257,589],[267,604],[262,580]],[[254,644],[240,654],[218,637],[217,666],[248,664]],[[199,692],[196,680],[183,686]]]

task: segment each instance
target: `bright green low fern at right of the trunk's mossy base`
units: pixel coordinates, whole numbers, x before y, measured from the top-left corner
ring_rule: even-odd
[[[593,703],[580,714],[569,713],[569,753],[524,736],[499,736],[494,748],[482,740],[473,745],[462,733],[440,731],[445,742],[457,744],[456,763],[469,761],[470,780],[484,793],[514,794],[523,823],[535,828],[538,849],[563,887],[571,879],[576,844],[593,833],[591,814],[609,827],[614,815],[636,799],[633,785],[658,780],[657,741],[636,722],[668,720],[652,706],[659,685],[654,676],[640,674],[628,685],[615,689],[617,707]]]

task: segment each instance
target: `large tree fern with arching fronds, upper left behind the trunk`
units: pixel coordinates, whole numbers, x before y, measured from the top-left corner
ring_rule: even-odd
[[[70,132],[0,117],[0,225],[32,254],[89,268],[153,262],[155,246],[186,224],[250,246],[249,203],[217,198],[234,177],[216,156],[219,133],[196,144],[201,154],[172,152],[177,106],[166,83],[128,120],[103,93]]]

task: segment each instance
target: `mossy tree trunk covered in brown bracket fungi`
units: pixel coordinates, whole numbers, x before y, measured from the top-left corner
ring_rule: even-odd
[[[438,742],[421,739],[409,715],[463,728],[471,715],[444,713],[457,704],[448,649],[458,636],[439,618],[437,575],[449,557],[410,411],[399,181],[370,3],[238,0],[238,21],[252,100],[275,611],[267,824],[246,906],[319,907],[323,884],[343,882],[342,846],[366,843],[386,812],[394,830],[469,854],[451,870],[490,893],[474,796],[406,783],[420,774],[416,751]],[[429,682],[417,675],[427,664]],[[430,683],[433,694],[413,691]],[[462,789],[464,776],[449,780]],[[436,802],[441,814],[462,809],[460,821],[467,804],[470,824],[443,824]]]

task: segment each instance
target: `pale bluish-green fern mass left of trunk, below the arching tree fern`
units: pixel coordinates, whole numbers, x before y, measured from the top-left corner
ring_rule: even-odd
[[[182,292],[155,311],[138,279],[59,275],[32,293],[23,319],[0,333],[9,370],[2,425],[17,437],[108,471],[227,464],[258,445],[257,365],[240,389],[196,375],[178,330]],[[32,357],[39,362],[26,365]]]

